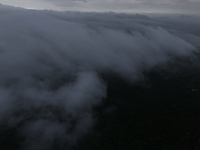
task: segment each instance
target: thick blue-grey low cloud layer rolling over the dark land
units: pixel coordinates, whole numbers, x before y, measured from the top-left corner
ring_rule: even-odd
[[[93,107],[106,98],[102,73],[140,80],[144,70],[192,56],[197,43],[187,37],[200,35],[199,21],[184,16],[6,10],[0,14],[0,124],[24,138],[23,150],[75,145],[92,129]]]

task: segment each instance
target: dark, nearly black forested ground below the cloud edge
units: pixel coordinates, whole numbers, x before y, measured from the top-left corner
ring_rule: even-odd
[[[200,68],[171,64],[144,73],[137,83],[104,74],[107,98],[94,108],[93,131],[76,150],[200,149]],[[170,69],[169,69],[170,68]],[[0,149],[17,150],[23,137],[1,126]],[[55,150],[63,149],[55,144]]]

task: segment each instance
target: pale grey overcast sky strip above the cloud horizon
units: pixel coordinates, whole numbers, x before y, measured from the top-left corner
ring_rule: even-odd
[[[0,0],[31,9],[200,14],[200,0]]]

